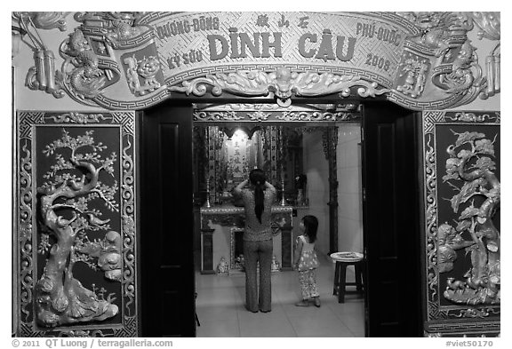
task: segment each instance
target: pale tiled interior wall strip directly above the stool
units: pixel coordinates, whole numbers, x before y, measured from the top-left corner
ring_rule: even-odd
[[[363,253],[361,126],[338,129],[338,250]]]

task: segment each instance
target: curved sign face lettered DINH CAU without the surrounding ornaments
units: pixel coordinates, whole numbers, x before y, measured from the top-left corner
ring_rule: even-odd
[[[400,60],[396,49],[414,30],[400,20],[361,13],[226,12],[166,14],[150,23],[169,84],[204,75],[205,68],[212,74],[306,64],[317,72],[367,72],[390,88]]]

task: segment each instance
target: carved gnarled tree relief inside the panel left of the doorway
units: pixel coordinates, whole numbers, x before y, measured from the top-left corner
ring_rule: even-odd
[[[116,180],[106,184],[114,177],[117,155],[103,156],[106,148],[95,142],[93,131],[75,138],[65,129],[44,148],[44,155],[54,159],[44,174],[47,181],[37,188],[43,226],[38,252],[48,253],[35,289],[36,319],[44,326],[102,321],[118,313],[113,294],[94,286],[87,290],[73,274],[82,262],[121,280],[121,236],[110,230],[100,210],[90,207],[103,202],[107,210],[119,210]],[[89,240],[88,233],[101,231],[108,232],[103,240]]]

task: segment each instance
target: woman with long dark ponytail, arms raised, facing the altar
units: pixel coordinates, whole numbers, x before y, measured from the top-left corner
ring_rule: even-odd
[[[245,188],[251,183],[250,188]],[[267,182],[265,173],[254,169],[236,186],[234,193],[244,202],[244,261],[245,261],[245,308],[252,313],[268,313],[272,310],[270,267],[272,265],[271,209],[276,199],[276,188]],[[260,286],[257,267],[260,264]]]

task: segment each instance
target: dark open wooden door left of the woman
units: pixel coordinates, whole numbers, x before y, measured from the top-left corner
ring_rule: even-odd
[[[140,113],[143,337],[195,337],[192,106]]]

